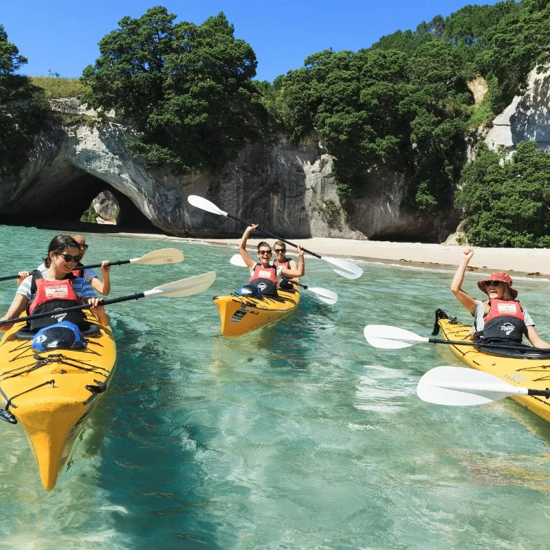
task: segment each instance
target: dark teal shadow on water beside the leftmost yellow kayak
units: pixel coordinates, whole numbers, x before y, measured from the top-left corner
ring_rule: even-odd
[[[187,357],[183,368],[162,340],[142,344],[139,330],[120,320],[117,328],[113,398],[96,418],[104,432],[87,442],[87,453],[102,454],[97,482],[116,511],[115,529],[133,549],[221,548],[214,542],[217,520],[208,520],[215,503],[203,492],[197,461],[208,434],[187,421],[187,405],[201,399],[186,397],[189,374],[201,366]]]

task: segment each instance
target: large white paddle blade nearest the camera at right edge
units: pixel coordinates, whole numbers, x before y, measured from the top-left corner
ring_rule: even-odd
[[[530,390],[512,386],[500,378],[462,366],[437,366],[421,377],[417,395],[438,405],[481,405],[514,395],[542,395],[550,399],[550,389]]]

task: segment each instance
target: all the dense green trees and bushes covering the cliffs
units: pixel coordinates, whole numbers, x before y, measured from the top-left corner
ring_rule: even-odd
[[[223,14],[201,25],[175,23],[175,17],[162,7],[124,17],[83,72],[83,99],[115,109],[133,125],[139,137],[129,145],[148,164],[216,170],[245,142],[269,137],[273,129],[296,143],[315,130],[334,158],[343,199],[361,196],[373,175],[390,170],[405,176],[403,208],[429,215],[455,204],[472,243],[547,243],[543,153],[520,147],[500,166],[496,153],[482,149],[465,165],[476,126],[524,89],[534,67],[550,61],[546,0],[468,5],[358,52],[311,54],[304,67],[273,84],[252,80],[254,51],[234,37]],[[0,122],[6,129],[0,175],[24,162],[49,116],[44,94],[14,75],[25,61],[0,27]],[[489,91],[474,104],[468,83],[479,76]],[[536,177],[524,169],[525,155],[540,167]],[[511,188],[522,201],[513,214],[503,194]],[[483,203],[487,197],[494,208]]]

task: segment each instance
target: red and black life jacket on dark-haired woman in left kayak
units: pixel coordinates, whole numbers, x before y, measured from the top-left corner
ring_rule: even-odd
[[[75,325],[82,325],[85,322],[82,311],[69,311],[64,314],[55,313],[58,309],[80,304],[72,285],[74,278],[75,276],[71,273],[61,281],[46,281],[41,272],[32,272],[31,294],[35,292],[36,294],[29,305],[28,313],[32,315],[51,311],[52,315],[31,320],[31,331],[50,327],[50,325],[60,321],[74,322]]]

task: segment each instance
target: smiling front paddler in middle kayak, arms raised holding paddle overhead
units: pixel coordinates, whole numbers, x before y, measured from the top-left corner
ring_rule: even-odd
[[[241,258],[250,270],[248,285],[260,289],[261,293],[265,294],[265,296],[277,296],[277,287],[278,283],[281,281],[281,276],[293,278],[301,277],[305,273],[304,252],[298,246],[298,267],[296,270],[287,269],[282,266],[275,267],[270,263],[273,255],[270,244],[261,241],[261,243],[258,244],[259,262],[256,263],[246,251],[246,242],[248,241],[250,233],[256,231],[257,228],[257,224],[249,225],[248,228],[245,229],[241,242],[239,243]]]

